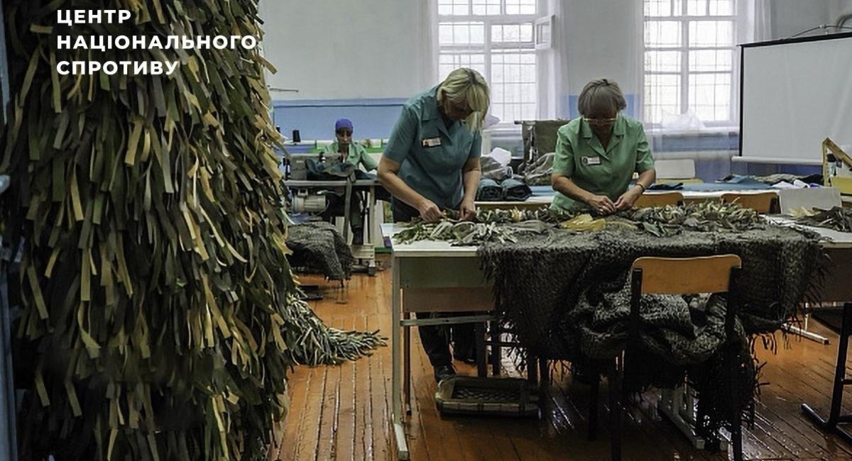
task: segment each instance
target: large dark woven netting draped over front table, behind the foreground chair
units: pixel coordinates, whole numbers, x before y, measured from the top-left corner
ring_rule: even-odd
[[[727,303],[722,296],[689,304],[680,296],[644,295],[639,348],[631,349],[633,373],[625,377],[626,389],[643,390],[670,387],[686,376],[698,392],[699,413],[706,416],[699,433],[710,439],[740,416],[730,398],[734,380],[729,364],[744,365],[735,378],[743,407],[758,391],[759,367],[749,357],[749,339],[774,332],[804,299],[817,299],[815,274],[823,267],[814,236],[775,226],[741,232],[681,230],[665,237],[624,227],[553,231],[513,243],[486,243],[478,253],[495,283],[498,310],[521,346],[538,356],[579,362],[611,359],[625,349],[628,275],[635,259],[739,255],[744,289],[736,337],[725,334]]]

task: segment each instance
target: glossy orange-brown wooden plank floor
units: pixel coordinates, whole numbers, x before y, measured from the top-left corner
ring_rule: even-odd
[[[376,330],[390,336],[390,272],[375,277],[355,275],[341,291],[333,282],[302,277],[303,283],[324,288],[325,299],[312,302],[317,314],[341,329]],[[345,297],[345,304],[342,298]],[[777,355],[761,351],[761,400],[753,430],[745,431],[746,459],[852,459],[852,447],[823,435],[804,418],[799,405],[807,401],[825,411],[831,394],[836,336],[825,328],[811,330],[830,336],[832,344],[790,337]],[[411,458],[421,460],[573,460],[607,459],[608,435],[602,425],[597,441],[587,441],[588,386],[570,376],[555,379],[545,396],[543,417],[444,418],[435,410],[435,380],[417,333],[412,350],[416,402],[407,425]],[[781,335],[778,335],[781,340]],[[396,459],[390,426],[390,347],[340,367],[299,367],[291,375],[291,410],[283,442],[271,459],[385,460]],[[515,373],[509,361],[509,373]],[[456,364],[459,373],[475,369]],[[516,374],[516,373],[515,373]],[[602,387],[602,396],[605,394]],[[676,428],[653,411],[653,393],[634,407],[625,420],[625,459],[727,459],[727,453],[694,450]],[[601,421],[607,408],[602,399]],[[847,403],[849,399],[846,399]],[[844,406],[849,412],[850,406]]]

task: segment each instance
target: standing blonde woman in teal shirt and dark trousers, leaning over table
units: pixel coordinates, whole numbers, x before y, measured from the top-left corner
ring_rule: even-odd
[[[458,210],[462,219],[475,215],[480,132],[489,104],[485,79],[477,71],[462,68],[403,105],[378,165],[378,179],[394,196],[394,221],[415,217],[437,221],[448,209]],[[456,357],[469,361],[474,356],[473,324],[451,329]],[[447,336],[435,326],[422,326],[419,331],[435,380],[454,375]]]

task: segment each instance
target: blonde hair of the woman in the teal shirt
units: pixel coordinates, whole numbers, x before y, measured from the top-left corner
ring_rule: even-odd
[[[460,67],[450,72],[438,87],[438,103],[449,100],[453,105],[468,105],[472,111],[465,122],[471,131],[480,131],[485,122],[491,96],[488,83],[479,72]]]

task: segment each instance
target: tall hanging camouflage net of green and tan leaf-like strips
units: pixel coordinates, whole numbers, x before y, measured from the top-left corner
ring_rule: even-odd
[[[256,0],[7,0],[5,241],[24,237],[22,459],[265,459],[296,364],[383,344],[326,327],[285,258],[256,50],[58,49],[57,36],[260,37]],[[128,9],[57,24],[57,9]],[[59,75],[60,61],[180,61]],[[19,232],[21,234],[19,235]],[[289,443],[289,441],[284,441]]]

